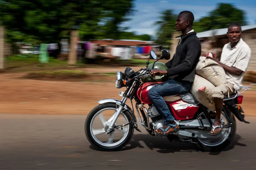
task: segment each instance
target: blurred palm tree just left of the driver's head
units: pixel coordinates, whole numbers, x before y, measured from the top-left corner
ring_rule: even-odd
[[[161,13],[160,20],[155,23],[159,25],[156,43],[169,46],[172,32],[175,31],[176,20],[177,15],[173,13],[173,10],[169,9]]]

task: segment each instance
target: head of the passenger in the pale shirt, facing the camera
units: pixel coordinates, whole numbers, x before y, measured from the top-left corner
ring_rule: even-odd
[[[241,39],[242,28],[239,23],[230,23],[227,29],[227,37],[230,42],[238,42]]]

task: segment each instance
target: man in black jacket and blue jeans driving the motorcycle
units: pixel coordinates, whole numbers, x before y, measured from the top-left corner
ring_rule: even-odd
[[[166,123],[156,132],[160,135],[169,135],[176,132],[178,125],[175,118],[169,111],[163,96],[172,96],[189,92],[195,78],[195,67],[201,56],[201,43],[192,29],[194,15],[190,11],[182,11],[175,23],[176,31],[181,31],[180,42],[177,45],[173,58],[166,62],[168,69],[153,70],[151,74],[167,74],[169,79],[159,85],[154,86],[148,91],[149,98],[153,102],[157,111],[163,114]]]

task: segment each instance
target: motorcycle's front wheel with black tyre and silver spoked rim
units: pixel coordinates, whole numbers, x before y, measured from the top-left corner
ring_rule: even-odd
[[[126,125],[129,122],[131,122],[131,124],[105,135],[106,132],[109,132],[108,126],[110,125],[110,122],[108,122],[108,119],[110,119],[116,109],[117,105],[115,103],[104,103],[98,105],[90,111],[85,120],[84,131],[86,137],[90,144],[99,150],[120,150],[130,142],[133,136],[134,122],[131,122],[132,116],[128,111],[124,110],[119,114],[115,125]]]

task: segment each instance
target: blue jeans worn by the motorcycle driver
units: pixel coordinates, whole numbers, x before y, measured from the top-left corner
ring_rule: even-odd
[[[192,82],[189,81],[176,81],[176,80],[168,80],[159,85],[152,87],[148,91],[148,96],[153,102],[154,107],[156,107],[158,113],[163,114],[166,119],[164,122],[173,122],[175,119],[172,116],[169,108],[166,105],[163,96],[172,96],[177,94],[184,94],[191,90]]]

